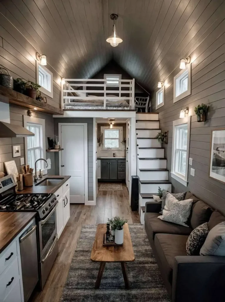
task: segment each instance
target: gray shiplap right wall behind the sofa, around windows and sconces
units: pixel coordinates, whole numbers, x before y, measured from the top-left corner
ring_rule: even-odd
[[[218,15],[219,17],[219,15]],[[219,23],[219,22],[218,22]],[[223,24],[223,26],[222,26]],[[185,187],[170,176],[174,192],[191,191],[198,198],[225,213],[225,184],[209,177],[209,157],[211,130],[225,128],[225,26],[219,23],[205,40],[190,53],[192,58],[192,93],[190,96],[173,103],[173,77],[180,71],[179,66],[168,63],[168,77],[165,81],[165,105],[156,108],[156,91],[153,95],[153,111],[159,112],[162,131],[169,131],[168,145],[165,145],[167,168],[171,171],[172,125],[179,119],[180,110],[189,107],[191,117],[190,153],[193,159],[195,177],[188,171],[188,187]],[[175,69],[174,69],[175,68]],[[174,69],[174,70],[173,70]],[[209,106],[207,121],[198,123],[194,107],[205,103]]]

